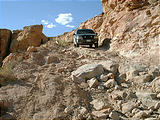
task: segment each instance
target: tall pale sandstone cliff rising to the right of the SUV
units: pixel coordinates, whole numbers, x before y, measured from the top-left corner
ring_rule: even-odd
[[[131,59],[160,61],[160,2],[157,0],[102,0],[104,13],[83,22],[99,34],[99,45]],[[72,40],[72,32],[58,36]],[[111,41],[108,41],[111,39]]]

